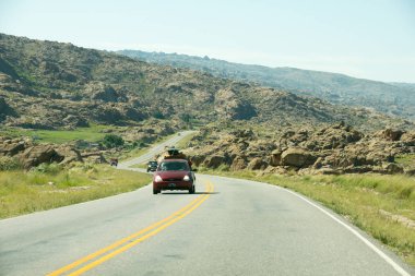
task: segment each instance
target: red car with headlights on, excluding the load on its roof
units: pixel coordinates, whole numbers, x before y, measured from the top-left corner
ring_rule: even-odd
[[[185,159],[164,159],[153,176],[153,194],[163,190],[188,190],[194,193],[194,172]]]

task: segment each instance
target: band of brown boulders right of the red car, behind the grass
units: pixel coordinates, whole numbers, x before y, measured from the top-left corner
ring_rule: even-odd
[[[269,135],[258,135],[251,130],[224,132],[211,127],[202,129],[189,146],[187,153],[193,164],[211,169],[299,175],[415,175],[415,167],[395,163],[396,156],[415,156],[415,132],[386,129],[364,134],[343,122]]]

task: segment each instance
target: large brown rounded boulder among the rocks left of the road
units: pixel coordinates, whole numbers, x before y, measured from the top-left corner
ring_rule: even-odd
[[[31,146],[20,155],[20,161],[26,169],[43,163],[60,163],[63,158],[51,145]]]

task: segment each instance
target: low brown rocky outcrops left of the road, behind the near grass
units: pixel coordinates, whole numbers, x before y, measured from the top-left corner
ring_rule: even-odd
[[[154,143],[159,137],[176,133],[178,128],[175,122],[166,123],[155,120],[153,123],[156,127],[145,124],[103,130],[105,133],[122,137],[126,145],[117,148],[106,148],[103,143],[90,143],[82,140],[64,144],[54,144],[39,143],[32,137],[0,136],[0,163],[15,163],[24,169],[51,163],[61,165],[70,165],[75,161],[108,163],[108,158],[122,157],[123,154],[127,154],[130,151],[129,146],[140,147],[147,143]]]

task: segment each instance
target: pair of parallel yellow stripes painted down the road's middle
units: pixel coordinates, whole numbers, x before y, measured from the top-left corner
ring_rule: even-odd
[[[206,192],[209,193],[211,191],[213,191],[213,187],[212,187],[211,183],[208,183],[208,191]],[[157,221],[157,223],[155,223],[155,224],[153,224],[153,225],[151,225],[151,226],[149,226],[149,227],[146,227],[146,228],[138,231],[138,232],[135,232],[135,233],[132,233],[132,235],[130,235],[130,236],[128,236],[128,237],[126,237],[126,238],[123,238],[123,239],[121,239],[119,241],[116,241],[115,243],[112,243],[112,244],[110,244],[110,245],[108,245],[108,247],[106,247],[104,249],[100,249],[100,250],[98,250],[98,251],[96,251],[96,252],[94,252],[92,254],[88,254],[88,255],[86,255],[86,256],[84,256],[84,257],[82,257],[82,259],[80,259],[80,260],[78,260],[78,261],[75,261],[75,262],[67,265],[67,266],[63,266],[63,267],[61,267],[61,268],[59,268],[59,269],[57,269],[55,272],[51,272],[51,273],[47,274],[47,276],[58,276],[58,275],[61,275],[61,274],[63,274],[63,273],[66,273],[66,272],[68,272],[70,269],[72,269],[72,268],[74,268],[76,266],[82,265],[83,263],[85,263],[87,261],[91,261],[91,260],[93,260],[93,259],[95,259],[95,257],[97,257],[99,255],[103,255],[104,253],[106,253],[106,252],[108,252],[108,251],[110,251],[112,249],[116,249],[117,247],[120,247],[123,243],[130,241],[129,244],[127,244],[127,245],[124,245],[124,247],[122,247],[122,248],[120,248],[120,249],[118,249],[118,250],[116,250],[116,251],[114,251],[114,252],[111,252],[111,253],[109,253],[109,254],[107,254],[107,255],[98,259],[97,261],[95,261],[95,262],[86,265],[85,267],[88,267],[87,269],[84,269],[85,267],[83,267],[83,268],[81,268],[79,271],[75,271],[74,273],[70,274],[70,275],[80,275],[83,272],[86,272],[86,271],[95,267],[96,265],[98,265],[98,264],[107,261],[108,259],[111,259],[115,255],[118,255],[119,253],[126,251],[127,249],[129,249],[129,248],[131,248],[131,247],[140,243],[141,241],[143,241],[143,240],[145,240],[145,239],[147,239],[147,238],[156,235],[157,232],[162,231],[163,229],[165,229],[169,225],[171,225],[175,221],[177,221],[177,220],[181,219],[182,217],[187,216],[193,209],[195,209],[200,204],[202,204],[202,202],[204,202],[209,196],[210,196],[210,194],[199,195],[197,199],[194,199],[193,201],[191,201],[188,205],[186,205],[185,207],[182,207],[179,211],[175,212],[170,216],[168,216],[168,217],[166,217],[166,218],[164,218],[164,219],[162,219],[162,220],[159,220],[159,221]],[[151,231],[154,228],[156,228],[156,229],[153,230],[153,231]],[[137,239],[135,241],[131,242],[132,239],[134,239],[134,238],[137,238],[137,237],[139,237],[139,236],[141,236],[141,235],[143,235],[145,232],[149,232],[149,231],[151,231],[151,232],[147,233],[147,235],[145,235],[145,236],[143,236],[143,237],[141,237],[141,238],[139,238],[139,239]],[[123,249],[123,248],[126,248],[126,249]],[[115,252],[118,252],[118,253],[114,254]],[[105,260],[100,261],[102,259],[105,259]],[[100,262],[98,262],[98,261],[100,261]],[[92,265],[94,263],[96,263],[96,264]]]

